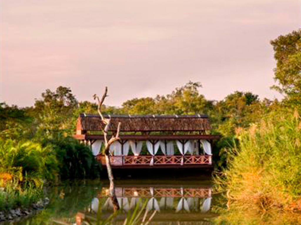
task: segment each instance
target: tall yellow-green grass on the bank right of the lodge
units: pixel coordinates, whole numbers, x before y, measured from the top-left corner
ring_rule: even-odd
[[[301,210],[301,119],[297,112],[271,114],[237,135],[228,167],[216,174],[227,206],[240,211]]]

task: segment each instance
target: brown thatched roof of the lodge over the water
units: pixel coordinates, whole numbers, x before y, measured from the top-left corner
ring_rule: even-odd
[[[111,118],[110,131],[116,131],[121,122],[120,131],[205,131],[210,130],[209,119],[205,115],[181,116],[132,116],[132,115],[104,115]],[[104,124],[98,115],[81,114],[77,121],[76,130],[101,131]]]

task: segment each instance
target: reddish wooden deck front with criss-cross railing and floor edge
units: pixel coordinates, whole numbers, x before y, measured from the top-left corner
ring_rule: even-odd
[[[98,155],[97,160],[105,167],[104,155]],[[113,168],[185,168],[211,167],[211,155],[120,155],[110,157]]]

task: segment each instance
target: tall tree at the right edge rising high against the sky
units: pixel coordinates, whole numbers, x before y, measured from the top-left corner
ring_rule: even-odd
[[[271,41],[277,65],[272,88],[284,94],[290,104],[301,101],[301,30],[281,35]]]

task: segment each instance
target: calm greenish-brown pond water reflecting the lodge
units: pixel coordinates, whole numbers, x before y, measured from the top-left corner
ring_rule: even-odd
[[[96,224],[97,216],[104,221],[113,213],[107,194],[107,182],[65,182],[48,190],[47,208],[31,217],[4,224],[87,224],[84,221]],[[122,212],[115,217],[114,224],[123,224],[126,214],[143,203],[148,216],[157,210],[151,224],[209,225],[217,216],[212,211],[215,196],[208,179],[118,180],[116,196]]]

